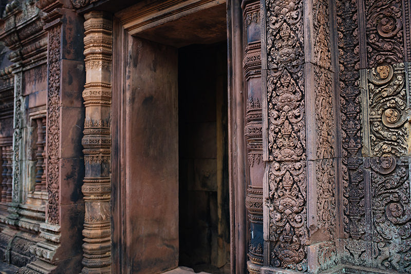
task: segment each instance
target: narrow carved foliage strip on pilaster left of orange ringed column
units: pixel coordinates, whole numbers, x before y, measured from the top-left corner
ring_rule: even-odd
[[[60,173],[60,36],[61,26],[49,30],[49,87],[47,99],[47,221],[59,225]]]

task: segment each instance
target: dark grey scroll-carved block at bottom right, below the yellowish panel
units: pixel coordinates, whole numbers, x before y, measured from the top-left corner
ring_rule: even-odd
[[[406,159],[370,159],[373,257],[386,269],[411,271],[411,205]]]

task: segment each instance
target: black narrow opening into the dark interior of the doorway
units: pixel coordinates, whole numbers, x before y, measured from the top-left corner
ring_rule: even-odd
[[[229,261],[227,44],[179,49],[179,265]]]

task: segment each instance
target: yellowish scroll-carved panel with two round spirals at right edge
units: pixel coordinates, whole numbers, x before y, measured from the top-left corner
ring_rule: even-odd
[[[371,155],[406,155],[407,94],[404,64],[368,69]]]

